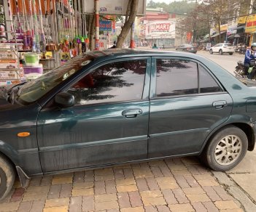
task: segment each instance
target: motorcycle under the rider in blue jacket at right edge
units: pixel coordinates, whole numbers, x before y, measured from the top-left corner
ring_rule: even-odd
[[[255,80],[255,73],[256,73],[256,61],[251,60],[249,65],[248,73],[245,71],[244,62],[238,61],[236,65],[236,70],[234,71],[236,78],[248,78],[249,75],[251,76],[251,79]]]

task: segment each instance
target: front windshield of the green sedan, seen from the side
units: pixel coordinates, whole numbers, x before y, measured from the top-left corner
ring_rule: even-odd
[[[36,78],[34,81],[28,81],[18,92],[18,101],[21,100],[21,102],[26,103],[35,102],[59,83],[66,81],[78,70],[88,65],[92,60],[92,55],[82,54]]]

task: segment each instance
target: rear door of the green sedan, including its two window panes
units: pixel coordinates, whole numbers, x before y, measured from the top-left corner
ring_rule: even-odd
[[[196,61],[155,57],[152,65],[148,157],[199,152],[209,132],[228,119],[230,95]]]

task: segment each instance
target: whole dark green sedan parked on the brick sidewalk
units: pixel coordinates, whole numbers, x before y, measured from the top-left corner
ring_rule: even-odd
[[[108,49],[1,88],[0,197],[32,176],[255,147],[256,88],[196,54]]]

